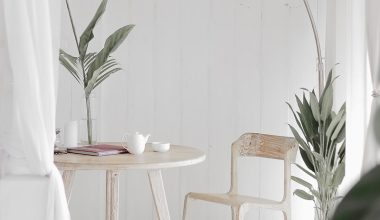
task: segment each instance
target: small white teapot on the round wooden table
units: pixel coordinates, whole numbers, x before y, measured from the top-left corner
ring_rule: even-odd
[[[139,132],[133,134],[125,134],[123,136],[123,147],[128,150],[131,154],[142,154],[145,150],[145,144],[148,141],[150,134],[143,135]],[[126,146],[124,146],[126,142]]]

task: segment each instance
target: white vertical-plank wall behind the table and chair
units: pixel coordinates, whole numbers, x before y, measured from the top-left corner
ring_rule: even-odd
[[[311,2],[315,13],[317,3]],[[81,32],[98,1],[71,4]],[[62,10],[62,48],[75,54],[66,8]],[[151,140],[203,149],[208,156],[204,163],[164,171],[172,219],[180,219],[187,192],[228,190],[230,144],[240,134],[289,135],[285,101],[292,102],[298,88],[317,85],[308,22],[302,1],[295,0],[109,1],[90,50],[99,50],[116,28],[136,27],[114,54],[124,70],[95,94],[99,139],[120,141],[126,131],[140,131],[151,133]],[[82,117],[81,89],[63,68],[61,72],[58,127]],[[279,163],[242,160],[240,166],[249,175],[241,178],[244,193],[280,198]],[[104,176],[78,173],[70,204],[73,220],[104,219]],[[145,172],[123,172],[120,189],[121,220],[154,218]],[[294,199],[293,204],[294,219],[312,218],[311,203]],[[196,203],[192,210],[192,219],[230,218],[223,206]],[[259,210],[247,215],[259,218],[282,215]]]

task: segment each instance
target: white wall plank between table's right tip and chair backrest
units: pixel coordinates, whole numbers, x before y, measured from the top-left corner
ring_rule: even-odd
[[[236,134],[236,1],[210,1],[209,46],[209,187],[226,192],[231,143]],[[230,209],[211,205],[211,219],[229,219]]]

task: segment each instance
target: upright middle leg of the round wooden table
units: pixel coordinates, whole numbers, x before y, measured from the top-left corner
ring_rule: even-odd
[[[119,172],[107,170],[106,220],[119,219]]]

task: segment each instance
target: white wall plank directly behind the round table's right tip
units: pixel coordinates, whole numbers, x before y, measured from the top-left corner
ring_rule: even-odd
[[[208,61],[209,1],[181,1],[181,139],[180,143],[208,151]],[[194,16],[194,12],[197,16]],[[208,192],[208,184],[199,181],[209,176],[208,160],[180,170],[180,213],[184,196],[192,192]],[[208,207],[192,204],[192,219],[208,219]],[[180,218],[181,219],[181,218]]]

